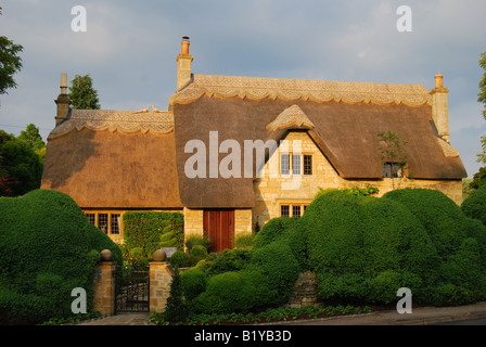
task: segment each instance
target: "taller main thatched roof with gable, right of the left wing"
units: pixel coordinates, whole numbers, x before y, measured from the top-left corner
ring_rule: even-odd
[[[218,131],[219,143],[232,139],[243,147],[244,140],[305,129],[342,178],[381,179],[378,133],[392,130],[408,141],[411,177],[466,176],[457,151],[437,136],[423,86],[194,75],[171,104],[181,203],[192,208],[255,204],[253,179],[186,176],[192,156],[186,143],[199,139],[208,149],[209,131]]]

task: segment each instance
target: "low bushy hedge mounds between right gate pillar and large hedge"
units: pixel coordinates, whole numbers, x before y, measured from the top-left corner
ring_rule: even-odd
[[[256,250],[226,249],[182,272],[183,293],[195,313],[230,313],[285,304],[299,273],[284,242]]]

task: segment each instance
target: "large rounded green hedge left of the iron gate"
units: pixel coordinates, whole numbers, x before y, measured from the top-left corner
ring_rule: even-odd
[[[0,198],[0,321],[33,324],[73,314],[71,292],[82,287],[92,305],[94,264],[122,252],[66,194],[36,190]]]

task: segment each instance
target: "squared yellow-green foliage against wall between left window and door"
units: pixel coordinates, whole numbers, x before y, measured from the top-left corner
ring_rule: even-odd
[[[124,214],[124,247],[141,248],[149,259],[161,247],[183,249],[183,215],[180,213],[127,211]]]

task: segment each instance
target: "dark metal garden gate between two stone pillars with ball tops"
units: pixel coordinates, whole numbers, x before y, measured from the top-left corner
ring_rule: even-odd
[[[124,273],[116,295],[116,313],[149,312],[149,271]]]

